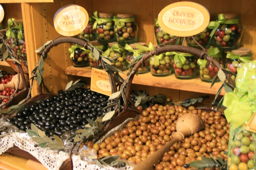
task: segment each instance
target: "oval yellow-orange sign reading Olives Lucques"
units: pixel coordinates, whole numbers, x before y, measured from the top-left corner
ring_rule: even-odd
[[[162,9],[158,23],[171,35],[186,37],[199,34],[210,21],[208,10],[194,2],[176,2]]]

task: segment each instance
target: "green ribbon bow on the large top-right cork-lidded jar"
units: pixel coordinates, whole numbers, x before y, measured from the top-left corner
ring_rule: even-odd
[[[215,33],[215,31],[218,29],[220,24],[236,24],[239,22],[239,19],[234,19],[234,20],[227,20],[225,18],[224,14],[219,14],[218,15],[218,20],[216,21],[210,21],[208,24],[208,28],[209,29],[213,29],[210,36],[211,38],[213,37],[213,34]]]

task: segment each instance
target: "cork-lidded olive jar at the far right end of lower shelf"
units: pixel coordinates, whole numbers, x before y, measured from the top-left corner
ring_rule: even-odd
[[[252,60],[251,49],[241,47],[237,50],[228,51],[226,69],[237,73],[237,67],[240,67],[243,63],[249,63]],[[235,76],[232,75],[231,78],[235,81]]]

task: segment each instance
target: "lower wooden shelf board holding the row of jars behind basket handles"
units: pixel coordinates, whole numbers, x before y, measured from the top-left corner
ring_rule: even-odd
[[[125,71],[127,73],[128,71]],[[69,66],[65,69],[65,74],[80,76],[80,77],[91,77],[91,68],[77,68],[74,66]],[[127,75],[120,74],[123,78],[127,78]],[[175,75],[172,74],[168,77],[154,77],[150,72],[146,74],[141,74],[138,76],[134,76],[133,84],[146,85],[146,86],[155,86],[155,87],[163,87],[168,89],[176,89],[190,92],[200,92],[206,94],[216,94],[220,86],[221,82],[215,83],[212,88],[211,83],[203,82],[200,78],[194,78],[190,80],[180,80],[175,78]],[[225,90],[223,89],[220,95],[224,95]]]

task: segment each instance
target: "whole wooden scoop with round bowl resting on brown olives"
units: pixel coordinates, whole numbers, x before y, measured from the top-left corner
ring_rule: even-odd
[[[170,142],[166,143],[161,149],[157,150],[153,155],[135,166],[133,170],[152,169],[154,164],[162,158],[163,154],[170,150],[171,146],[176,142],[182,142],[184,137],[199,132],[203,128],[204,122],[196,114],[188,113],[180,116],[176,122],[177,132],[174,134],[174,138]]]

